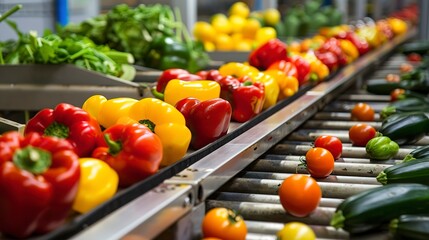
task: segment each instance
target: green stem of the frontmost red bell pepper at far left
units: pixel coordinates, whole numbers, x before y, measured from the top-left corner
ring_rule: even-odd
[[[13,163],[20,169],[41,174],[51,166],[52,158],[48,151],[29,146],[14,153]]]

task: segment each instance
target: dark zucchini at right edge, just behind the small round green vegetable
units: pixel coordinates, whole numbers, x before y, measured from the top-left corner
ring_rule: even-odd
[[[429,118],[421,112],[393,114],[382,122],[378,132],[399,145],[415,143],[429,132]]]

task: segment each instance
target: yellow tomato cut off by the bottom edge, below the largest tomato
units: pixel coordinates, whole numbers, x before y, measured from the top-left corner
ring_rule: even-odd
[[[307,224],[301,222],[286,223],[277,232],[278,240],[316,240],[316,234]]]

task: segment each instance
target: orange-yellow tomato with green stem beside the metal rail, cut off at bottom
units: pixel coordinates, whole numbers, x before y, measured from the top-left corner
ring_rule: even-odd
[[[247,227],[243,218],[231,209],[218,207],[206,213],[202,222],[204,238],[222,240],[246,239]]]

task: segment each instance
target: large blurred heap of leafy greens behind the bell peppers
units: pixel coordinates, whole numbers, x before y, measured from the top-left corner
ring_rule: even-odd
[[[119,4],[105,14],[60,30],[61,36],[74,34],[131,53],[137,64],[154,69],[195,72],[209,63],[202,43],[191,39],[179,11],[173,12],[168,5],[141,4],[132,8]]]

